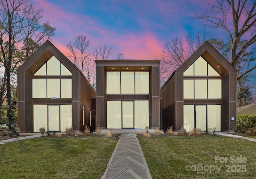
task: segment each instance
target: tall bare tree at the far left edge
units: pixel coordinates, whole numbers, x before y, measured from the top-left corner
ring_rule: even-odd
[[[30,39],[35,37],[32,31],[27,31],[28,29],[34,28],[34,26],[30,24],[32,14],[36,14],[34,11],[35,9],[28,0],[0,0],[0,58],[5,70],[4,77],[6,80],[7,118],[9,125],[14,123],[11,109],[11,76],[15,72],[17,65],[28,58],[29,55],[26,56],[26,54],[24,55],[23,53],[30,51],[19,52],[22,49],[18,48],[18,44],[22,42],[24,44],[26,43],[26,35],[24,34],[27,34],[27,37],[30,37]],[[42,11],[39,10],[37,13],[42,14]],[[35,16],[33,21],[40,24],[40,17],[42,16]],[[48,24],[48,26],[50,25]],[[37,29],[36,31],[38,32],[39,30]],[[52,32],[46,36],[50,37],[54,35],[54,31],[55,28],[52,28]],[[35,44],[33,44],[33,46],[34,45]]]

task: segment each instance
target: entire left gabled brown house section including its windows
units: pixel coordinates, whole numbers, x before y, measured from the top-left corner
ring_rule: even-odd
[[[21,132],[95,128],[96,92],[82,72],[46,41],[18,68]]]

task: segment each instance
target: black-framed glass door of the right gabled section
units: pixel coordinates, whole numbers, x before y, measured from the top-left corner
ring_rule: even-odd
[[[201,132],[206,132],[206,121],[207,121],[206,105],[196,105],[195,117],[196,117],[196,128]]]

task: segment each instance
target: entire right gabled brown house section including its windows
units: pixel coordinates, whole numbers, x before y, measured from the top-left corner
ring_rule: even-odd
[[[208,42],[160,89],[162,128],[230,132],[236,126],[236,69]]]

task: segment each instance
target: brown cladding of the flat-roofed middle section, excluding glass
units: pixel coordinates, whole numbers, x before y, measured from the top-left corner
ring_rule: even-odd
[[[112,67],[115,67],[112,70]],[[129,70],[126,70],[129,67]],[[145,67],[141,70],[141,67]],[[106,72],[107,71],[149,71],[150,93],[149,94],[107,94]],[[152,85],[153,84],[153,85]],[[107,100],[118,101],[149,101],[149,127],[160,127],[160,97],[159,97],[159,61],[155,60],[96,60],[96,126],[103,129],[107,127]]]

